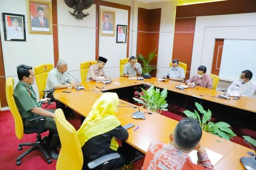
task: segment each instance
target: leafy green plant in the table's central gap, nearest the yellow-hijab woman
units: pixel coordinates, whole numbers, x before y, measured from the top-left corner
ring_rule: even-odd
[[[135,101],[143,104],[146,109],[161,113],[161,111],[167,111],[166,107],[168,103],[166,103],[165,98],[167,97],[167,89],[165,88],[160,92],[160,89],[154,89],[154,86],[150,86],[148,90],[142,89],[144,94],[140,94],[140,99],[133,97]]]

